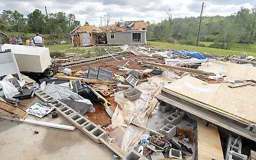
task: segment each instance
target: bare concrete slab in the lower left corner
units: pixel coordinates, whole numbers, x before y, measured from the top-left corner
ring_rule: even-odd
[[[35,98],[29,104],[37,101]],[[36,120],[31,115],[28,118]],[[62,116],[38,120],[72,125]],[[3,119],[0,119],[0,126],[1,159],[114,159],[108,148],[95,143],[78,129],[69,131]],[[35,130],[39,133],[35,134]]]

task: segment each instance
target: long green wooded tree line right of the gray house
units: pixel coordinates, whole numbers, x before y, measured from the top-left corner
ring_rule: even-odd
[[[158,23],[147,24],[147,40],[196,45],[199,17],[172,18],[171,10],[166,10],[168,18]],[[251,10],[240,8],[230,16],[203,16],[200,41],[214,42],[211,47],[229,49],[234,43],[255,43],[256,7]],[[200,44],[204,47],[204,44]]]

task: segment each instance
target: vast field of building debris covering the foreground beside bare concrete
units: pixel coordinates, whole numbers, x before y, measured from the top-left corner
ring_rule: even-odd
[[[19,47],[0,52],[0,118],[78,129],[116,159],[255,158],[254,57],[124,45],[74,60]]]

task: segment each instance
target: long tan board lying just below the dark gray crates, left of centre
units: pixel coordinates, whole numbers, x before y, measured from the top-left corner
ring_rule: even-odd
[[[71,77],[71,76],[56,76],[60,79],[69,79],[72,81],[81,80],[82,82],[87,83],[100,83],[100,84],[107,84],[107,85],[116,85],[113,81],[106,81],[106,80],[99,80],[99,79],[89,79],[89,78],[81,78],[81,77]]]

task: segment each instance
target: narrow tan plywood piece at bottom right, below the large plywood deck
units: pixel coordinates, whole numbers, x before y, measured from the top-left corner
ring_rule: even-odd
[[[197,122],[198,159],[224,160],[218,128],[211,124],[208,127],[205,125],[205,122]]]

